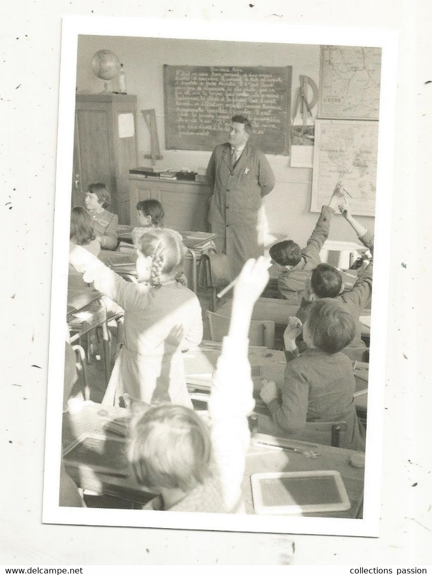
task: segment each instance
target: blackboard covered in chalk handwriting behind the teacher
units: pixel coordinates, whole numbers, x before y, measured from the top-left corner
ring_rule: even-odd
[[[291,66],[164,66],[165,148],[213,150],[231,117],[252,122],[267,154],[290,153]]]

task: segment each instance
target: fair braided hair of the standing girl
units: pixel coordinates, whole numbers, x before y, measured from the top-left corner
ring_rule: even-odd
[[[184,252],[180,237],[168,229],[160,228],[152,229],[141,236],[139,249],[142,255],[152,258],[149,280],[152,286],[161,286],[162,274],[186,285],[183,273]]]

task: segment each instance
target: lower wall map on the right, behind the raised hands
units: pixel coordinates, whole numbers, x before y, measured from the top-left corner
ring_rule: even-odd
[[[376,121],[317,120],[311,212],[328,204],[338,182],[350,194],[353,214],[375,216]]]

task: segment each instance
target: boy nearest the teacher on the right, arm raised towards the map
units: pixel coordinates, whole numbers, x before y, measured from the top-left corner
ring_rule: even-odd
[[[292,240],[279,241],[270,248],[270,257],[276,267],[281,270],[277,278],[277,287],[290,305],[300,305],[312,270],[321,263],[319,252],[329,236],[333,214],[343,203],[344,193],[342,185],[338,183],[329,205],[322,206],[317,225],[303,250],[300,250],[300,246]]]

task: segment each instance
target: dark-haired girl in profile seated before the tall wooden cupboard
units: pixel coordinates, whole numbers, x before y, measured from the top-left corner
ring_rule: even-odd
[[[117,248],[118,216],[106,208],[110,205],[111,196],[105,183],[91,183],[88,186],[84,203],[91,216],[96,239],[102,250]]]

